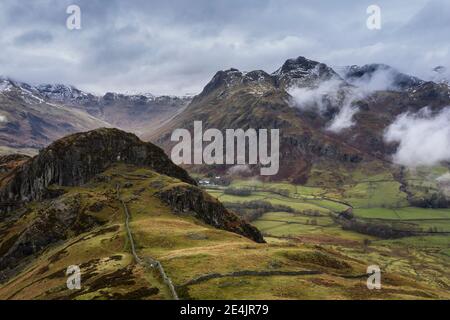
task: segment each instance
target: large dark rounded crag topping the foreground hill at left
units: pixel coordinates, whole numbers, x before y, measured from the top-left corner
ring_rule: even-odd
[[[151,167],[195,185],[159,147],[118,129],[97,129],[60,139],[0,180],[0,212],[40,200],[51,184],[82,185],[115,162]]]

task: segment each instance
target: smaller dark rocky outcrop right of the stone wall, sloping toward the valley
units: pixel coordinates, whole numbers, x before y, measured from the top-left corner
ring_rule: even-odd
[[[243,235],[258,243],[265,243],[258,229],[239,219],[219,201],[195,186],[170,186],[161,190],[158,197],[175,211],[193,212],[197,219],[209,225]]]

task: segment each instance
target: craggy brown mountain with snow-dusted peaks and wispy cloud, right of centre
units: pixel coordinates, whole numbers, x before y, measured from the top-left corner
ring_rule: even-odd
[[[143,138],[170,152],[173,130],[192,132],[194,121],[203,121],[204,129],[222,131],[280,129],[281,169],[271,178],[304,183],[313,165],[335,172],[340,165],[389,164],[396,145],[386,144],[383,134],[398,115],[425,106],[438,111],[450,105],[450,90],[443,84],[425,82],[384,65],[347,71],[343,79],[329,66],[304,57],[287,60],[273,74],[219,71],[183,112]],[[372,88],[377,72],[392,73],[399,89]],[[196,167],[221,173],[228,168]],[[254,174],[259,171],[251,169]]]

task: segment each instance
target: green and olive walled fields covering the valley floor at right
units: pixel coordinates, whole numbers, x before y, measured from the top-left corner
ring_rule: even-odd
[[[380,265],[387,273],[421,279],[434,288],[450,288],[448,276],[443,276],[448,274],[450,267],[450,209],[408,206],[407,194],[400,190],[400,184],[388,179],[392,176],[380,174],[329,190],[289,183],[237,180],[227,187],[213,187],[207,191],[225,205],[258,199],[292,209],[292,212],[264,212],[252,221],[269,243],[294,241],[319,245]],[[226,188],[252,191],[247,196],[230,195],[225,194]],[[344,230],[333,217],[349,208],[362,221],[392,222],[395,226],[417,228],[425,234],[382,239]]]

